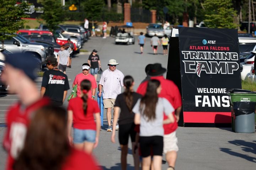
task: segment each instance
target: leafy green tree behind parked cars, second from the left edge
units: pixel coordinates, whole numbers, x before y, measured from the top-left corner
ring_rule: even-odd
[[[58,24],[65,21],[66,11],[59,0],[37,0],[43,6],[43,14],[39,17],[44,19],[50,31],[54,31]]]

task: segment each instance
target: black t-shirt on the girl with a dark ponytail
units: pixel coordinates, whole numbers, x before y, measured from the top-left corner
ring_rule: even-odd
[[[137,103],[138,99],[142,97],[142,95],[136,92],[133,92],[132,96],[133,96],[133,104],[132,104],[132,108],[133,108],[134,105]],[[134,113],[129,112],[129,109],[125,102],[125,96],[123,93],[117,96],[116,103],[114,106],[120,107],[121,109],[121,113],[118,121],[119,125],[129,124],[134,122]]]

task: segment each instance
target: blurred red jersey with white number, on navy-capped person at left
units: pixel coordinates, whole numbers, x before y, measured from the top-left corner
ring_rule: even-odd
[[[7,131],[3,142],[4,148],[8,151],[6,170],[12,169],[14,159],[23,147],[31,115],[48,104],[48,98],[42,98],[27,107],[22,106],[21,103],[10,107],[6,114]]]

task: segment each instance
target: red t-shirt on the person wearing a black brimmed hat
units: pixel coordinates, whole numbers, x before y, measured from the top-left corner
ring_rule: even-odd
[[[156,79],[160,81],[162,86],[162,90],[158,97],[166,98],[176,110],[178,107],[182,106],[181,95],[178,87],[171,80],[166,80],[163,76],[151,77],[150,79]],[[148,81],[144,81],[139,85],[137,89],[137,93],[141,95],[145,95],[146,87],[148,86]],[[172,113],[175,115],[175,112]],[[167,119],[167,116],[164,114],[164,120]],[[174,132],[178,128],[178,124],[176,122],[176,117],[174,116],[175,122],[171,124],[164,125],[164,134],[170,134]]]

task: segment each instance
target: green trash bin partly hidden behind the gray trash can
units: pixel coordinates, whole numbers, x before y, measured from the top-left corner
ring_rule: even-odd
[[[256,102],[256,92],[243,89],[230,89],[227,94],[229,95],[229,102],[231,106],[231,123],[232,130],[235,131],[234,120],[234,102]],[[255,118],[256,119],[256,118]],[[255,120],[256,121],[256,120]]]

